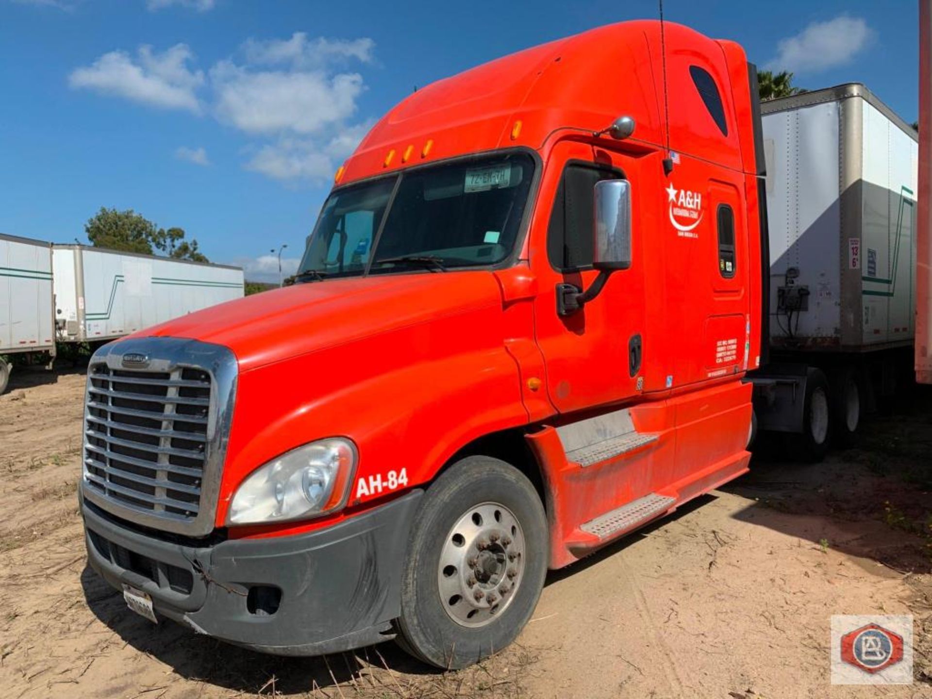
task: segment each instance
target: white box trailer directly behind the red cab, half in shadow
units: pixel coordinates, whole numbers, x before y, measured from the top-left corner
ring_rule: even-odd
[[[761,113],[771,362],[754,377],[755,413],[819,458],[911,380],[918,134],[859,84]]]

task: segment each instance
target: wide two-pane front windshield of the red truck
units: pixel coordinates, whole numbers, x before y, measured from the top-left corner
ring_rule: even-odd
[[[297,281],[495,265],[512,253],[533,171],[527,153],[507,153],[339,190],[323,205]]]

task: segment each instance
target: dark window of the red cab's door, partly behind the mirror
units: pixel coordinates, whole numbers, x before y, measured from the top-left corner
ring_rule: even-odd
[[[547,256],[553,267],[569,272],[592,266],[596,182],[619,177],[618,172],[595,165],[567,165],[547,230]]]

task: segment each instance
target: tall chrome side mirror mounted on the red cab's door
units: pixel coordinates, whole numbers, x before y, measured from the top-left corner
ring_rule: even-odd
[[[631,184],[627,180],[596,183],[595,224],[593,267],[606,272],[631,267]]]

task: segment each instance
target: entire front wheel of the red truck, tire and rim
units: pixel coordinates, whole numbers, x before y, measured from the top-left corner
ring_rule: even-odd
[[[547,565],[547,518],[528,477],[499,459],[457,461],[415,517],[399,645],[444,669],[501,651],[528,623]]]

